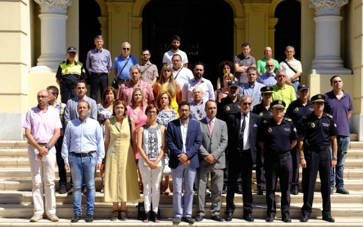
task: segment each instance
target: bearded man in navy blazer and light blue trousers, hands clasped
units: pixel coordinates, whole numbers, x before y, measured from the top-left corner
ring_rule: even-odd
[[[197,121],[189,119],[190,103],[179,103],[179,119],[169,122],[166,130],[166,144],[170,151],[169,167],[173,180],[174,220],[177,224],[183,219],[194,223],[192,218],[193,183],[196,168],[199,167],[198,150],[202,144],[201,128]],[[181,207],[181,185],[184,179],[184,212]]]

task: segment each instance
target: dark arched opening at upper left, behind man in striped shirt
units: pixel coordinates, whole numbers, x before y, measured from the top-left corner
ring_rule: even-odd
[[[95,48],[94,37],[101,34],[98,17],[101,9],[94,0],[79,0],[79,51],[78,61],[86,63],[88,50]]]

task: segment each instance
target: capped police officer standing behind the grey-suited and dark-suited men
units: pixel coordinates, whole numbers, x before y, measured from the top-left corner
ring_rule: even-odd
[[[217,104],[217,118],[225,121],[225,122],[233,122],[236,117],[240,116],[240,105],[239,105],[239,86],[237,81],[229,81],[228,82],[228,96],[219,100]],[[227,186],[228,186],[228,150],[225,150],[226,154],[226,169],[223,175],[223,190],[222,194],[227,193]],[[235,192],[238,194],[242,194],[242,179],[238,177]]]

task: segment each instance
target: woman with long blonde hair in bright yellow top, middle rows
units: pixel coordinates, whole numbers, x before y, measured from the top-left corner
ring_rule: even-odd
[[[154,97],[157,97],[161,91],[167,91],[171,96],[171,107],[176,111],[177,118],[178,114],[178,103],[181,101],[181,88],[178,82],[174,80],[172,68],[169,65],[164,65],[160,71],[160,78],[156,82],[154,88]]]

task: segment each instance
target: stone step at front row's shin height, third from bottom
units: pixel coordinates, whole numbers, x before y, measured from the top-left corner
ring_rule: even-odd
[[[103,199],[104,194],[96,192],[95,202],[97,203],[106,203]],[[141,194],[141,197],[143,195]],[[291,204],[301,203],[302,201],[302,193],[298,195],[291,195]],[[72,204],[73,197],[72,195],[67,194],[58,194],[55,193],[57,204]],[[194,203],[196,203],[197,194],[194,194]],[[276,192],[275,194],[276,203],[281,202],[281,193]],[[253,193],[253,201],[256,204],[266,204],[266,194],[264,195],[256,195]],[[21,203],[27,204],[32,203],[33,197],[30,191],[1,191],[0,194],[0,204],[11,204],[11,203]],[[82,195],[82,203],[86,202],[86,196]],[[235,203],[243,203],[242,195],[235,194],[234,195]],[[320,192],[316,192],[314,195],[314,203],[322,203],[322,198]],[[206,198],[206,203],[211,203],[211,198]],[[226,195],[222,195],[222,203],[226,203]],[[334,193],[331,195],[331,203],[351,203],[351,204],[363,204],[363,195],[361,191],[350,191],[349,195],[342,195]],[[160,195],[160,204],[172,204],[172,193],[169,195]]]

